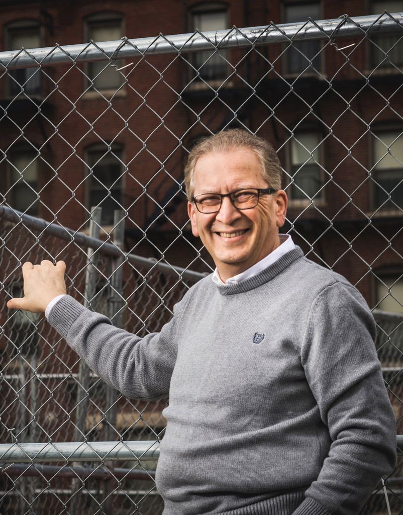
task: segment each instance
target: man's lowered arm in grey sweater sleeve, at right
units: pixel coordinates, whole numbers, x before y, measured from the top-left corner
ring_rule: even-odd
[[[293,515],[356,515],[393,469],[396,426],[375,334],[371,312],[353,286],[332,284],[311,307],[302,364],[332,443]]]

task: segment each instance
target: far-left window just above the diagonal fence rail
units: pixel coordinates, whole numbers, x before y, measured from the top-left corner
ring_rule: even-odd
[[[9,158],[10,204],[32,216],[38,214],[39,157],[32,150],[14,151]]]

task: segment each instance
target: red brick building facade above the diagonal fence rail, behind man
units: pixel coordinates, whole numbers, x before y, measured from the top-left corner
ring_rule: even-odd
[[[403,2],[2,2],[0,44],[3,50],[64,46],[383,9],[402,10]],[[129,64],[121,72],[107,62],[10,70],[0,84],[4,201],[79,230],[87,227],[91,205],[101,203],[106,232],[121,205],[129,214],[128,249],[205,270],[178,186],[183,160],[208,130],[243,125],[278,150],[290,197],[284,229],[313,259],[357,284],[371,306],[391,284],[401,300],[398,39],[146,54],[117,61],[116,67]],[[338,51],[353,44],[348,58]],[[401,310],[390,296],[379,306]]]

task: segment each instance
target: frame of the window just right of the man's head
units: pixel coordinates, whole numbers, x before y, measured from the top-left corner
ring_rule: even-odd
[[[314,134],[317,134],[318,135],[318,145],[319,145],[319,148],[318,148],[318,151],[319,151],[319,162],[322,163],[322,166],[320,164],[317,164],[318,166],[318,170],[319,170],[319,180],[321,181],[321,191],[319,194],[317,194],[312,200],[310,200],[309,198],[293,198],[292,197],[292,176],[294,175],[292,173],[292,167],[293,167],[293,164],[292,164],[292,145],[293,145],[293,141],[294,140],[294,137],[297,138],[297,134],[300,134],[300,133],[314,133]],[[287,193],[287,196],[288,196],[288,200],[289,200],[289,207],[292,209],[292,208],[300,208],[300,207],[307,207],[307,205],[310,205],[311,202],[314,203],[315,205],[319,205],[319,206],[323,206],[326,204],[326,196],[325,196],[325,190],[324,190],[324,171],[323,171],[323,162],[324,162],[324,157],[325,157],[325,144],[326,142],[324,142],[324,138],[322,137],[321,139],[321,136],[322,135],[322,132],[321,130],[318,128],[318,127],[311,127],[311,126],[304,126],[304,127],[301,127],[299,128],[298,130],[295,130],[293,131],[293,136],[290,135],[289,137],[289,141],[287,142],[287,150],[286,150],[286,169],[285,169],[285,178],[286,178],[286,193]],[[300,168],[301,166],[303,165],[300,165]]]

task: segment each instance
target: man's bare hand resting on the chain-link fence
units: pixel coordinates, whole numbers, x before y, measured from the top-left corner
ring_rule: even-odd
[[[22,266],[24,297],[10,299],[7,307],[13,310],[43,313],[52,299],[66,293],[65,270],[64,261],[58,261],[56,265],[47,260],[41,261],[40,265],[32,265],[27,261]]]

